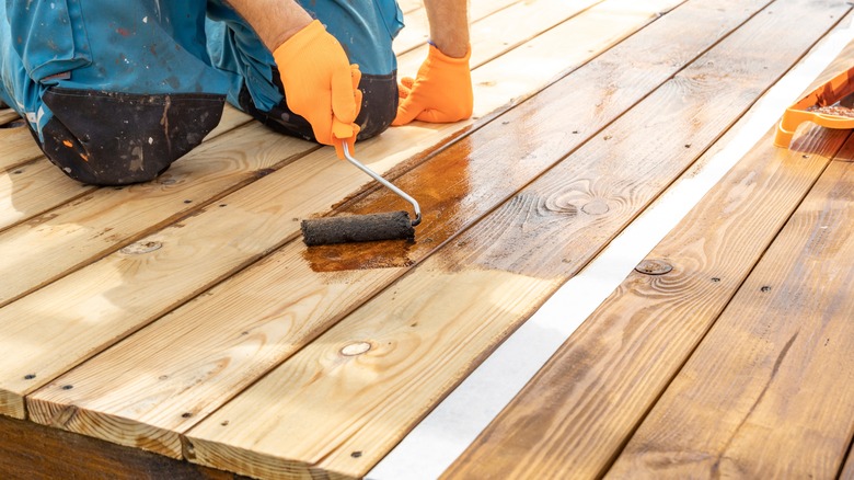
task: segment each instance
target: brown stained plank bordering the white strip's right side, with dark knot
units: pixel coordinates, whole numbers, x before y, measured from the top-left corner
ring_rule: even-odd
[[[852,54],[854,44],[808,91],[847,69]],[[604,473],[847,137],[813,128],[788,151],[773,134],[647,256],[673,271],[632,273],[446,477]]]

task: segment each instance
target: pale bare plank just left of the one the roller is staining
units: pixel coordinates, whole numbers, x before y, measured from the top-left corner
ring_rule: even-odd
[[[649,4],[657,7],[654,11],[658,11],[667,3]],[[615,22],[599,14],[597,21],[602,22],[600,25],[622,30],[625,36],[654,16],[650,12],[638,13],[624,15],[622,22]],[[579,18],[579,24],[584,21]],[[589,27],[581,28],[581,32],[587,30]],[[586,61],[595,53],[609,47],[612,36],[603,43],[595,37],[580,37],[579,48],[572,55],[565,55],[564,64],[554,65],[554,75],[557,69],[563,71],[573,62]],[[592,49],[593,54],[588,49]],[[524,96],[544,83],[542,77],[532,81],[517,83],[518,90],[513,95]],[[504,99],[482,96],[486,99],[476,103],[480,113],[489,112],[509,99],[509,95]],[[359,155],[363,159],[382,159],[366,161],[383,172],[470,124],[391,129],[381,137],[360,144]],[[0,410],[9,412],[7,414],[23,414],[23,396],[295,239],[299,217],[324,210],[330,203],[358,190],[365,183],[365,175],[337,161],[327,150],[300,158],[218,201],[217,205],[227,205],[228,208],[211,206],[143,239],[143,247],[150,242],[161,245],[149,255],[112,254],[0,310],[0,318],[26,319],[25,322],[0,322],[0,330],[3,330],[0,338],[10,352],[0,363],[0,387],[7,396]],[[243,150],[239,148],[238,151]],[[288,192],[288,195],[281,192]],[[162,282],[164,276],[171,278],[168,288]],[[61,316],[57,311],[61,311]],[[42,322],[44,328],[37,327]],[[51,342],[62,345],[59,355],[54,355],[58,351],[51,347]],[[44,350],[31,348],[35,343]],[[16,352],[14,355],[12,350]],[[22,375],[22,369],[35,373],[36,378],[24,378],[28,374]],[[175,445],[170,447],[176,452]]]

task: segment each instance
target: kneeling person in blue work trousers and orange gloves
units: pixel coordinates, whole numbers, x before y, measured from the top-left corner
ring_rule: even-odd
[[[395,0],[0,1],[0,101],[86,184],[155,179],[224,102],[323,145],[472,114],[466,0],[425,0],[427,58],[396,80]]]

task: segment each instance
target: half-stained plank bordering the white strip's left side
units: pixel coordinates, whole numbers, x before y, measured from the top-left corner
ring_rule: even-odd
[[[792,4],[785,14],[758,15],[749,24],[757,30],[746,26],[729,36],[416,271],[191,430],[186,438],[195,461],[251,475],[310,467],[363,475],[478,358],[682,172],[691,161],[686,140],[703,150],[740,115],[752,99],[732,92],[734,84],[761,93],[761,83],[753,84],[758,78],[773,82],[823,33],[800,32],[803,37],[783,47],[758,32],[793,26],[805,21],[804,15],[817,22],[813,25],[822,19],[826,28],[833,24],[828,10],[813,10],[815,2]],[[847,10],[835,8],[836,14]],[[739,58],[753,55],[749,52],[768,54],[766,61],[753,65]],[[706,93],[718,102],[707,104]],[[704,116],[692,123],[689,118],[701,105]],[[658,113],[655,121],[649,121],[651,112]],[[680,121],[680,115],[685,118]],[[547,245],[534,241],[546,238]],[[348,355],[366,344],[367,352]],[[254,405],[269,398],[276,398],[276,405],[258,412]]]

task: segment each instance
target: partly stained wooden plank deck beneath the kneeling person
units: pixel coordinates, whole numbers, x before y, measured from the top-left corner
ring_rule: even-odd
[[[412,73],[426,18],[400,3]],[[854,139],[755,126],[854,66],[851,10],[471,0],[475,116],[357,146],[422,203],[415,243],[307,249],[302,218],[406,205],[230,107],[125,188],[0,128],[0,472],[854,479]],[[630,253],[633,228],[660,231]],[[580,302],[555,305],[608,255],[615,288],[575,329]],[[487,375],[506,400],[461,393],[534,357],[518,387]]]

